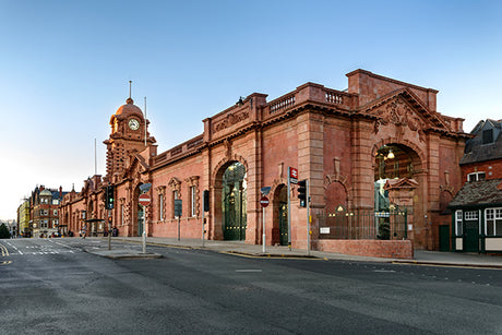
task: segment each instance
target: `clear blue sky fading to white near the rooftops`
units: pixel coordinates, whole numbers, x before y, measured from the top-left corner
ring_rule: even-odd
[[[36,186],[106,174],[129,81],[158,153],[240,96],[342,91],[356,69],[438,89],[470,132],[502,119],[500,17],[495,0],[0,0],[0,219]]]

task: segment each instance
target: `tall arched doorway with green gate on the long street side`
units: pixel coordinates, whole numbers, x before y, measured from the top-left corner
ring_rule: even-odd
[[[222,178],[222,229],[225,240],[246,240],[247,180],[246,167],[234,161]]]

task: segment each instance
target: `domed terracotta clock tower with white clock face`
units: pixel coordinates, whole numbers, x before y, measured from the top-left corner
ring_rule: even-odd
[[[131,97],[111,116],[111,134],[104,142],[107,146],[106,175],[108,181],[113,181],[115,176],[123,172],[132,154],[140,153],[156,142],[147,132],[148,123]]]

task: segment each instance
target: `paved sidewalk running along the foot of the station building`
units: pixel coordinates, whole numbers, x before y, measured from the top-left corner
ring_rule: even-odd
[[[107,239],[107,238],[105,238]],[[142,244],[141,237],[113,237],[112,241],[124,241]],[[148,246],[163,246],[187,249],[206,249],[215,252],[234,253],[252,258],[312,258],[312,259],[326,259],[338,261],[355,261],[355,262],[381,262],[381,263],[401,263],[401,264],[422,264],[422,265],[450,265],[450,266],[473,266],[473,267],[490,267],[502,270],[502,255],[492,256],[486,254],[474,253],[459,253],[459,252],[440,252],[440,251],[425,251],[415,250],[415,260],[398,260],[398,259],[383,259],[383,258],[369,258],[342,254],[335,252],[324,251],[310,251],[309,255],[304,249],[291,249],[288,247],[266,246],[263,252],[261,244],[247,244],[243,241],[214,241],[205,240],[204,247],[200,239],[181,239],[178,241],[176,238],[146,238],[146,253],[134,250],[87,250],[91,253],[108,256],[112,259],[121,258],[159,258],[162,255],[148,253]]]

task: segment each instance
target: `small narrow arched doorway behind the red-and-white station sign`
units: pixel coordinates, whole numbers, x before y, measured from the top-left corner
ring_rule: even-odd
[[[274,192],[272,244],[288,246],[288,189],[283,183]]]

